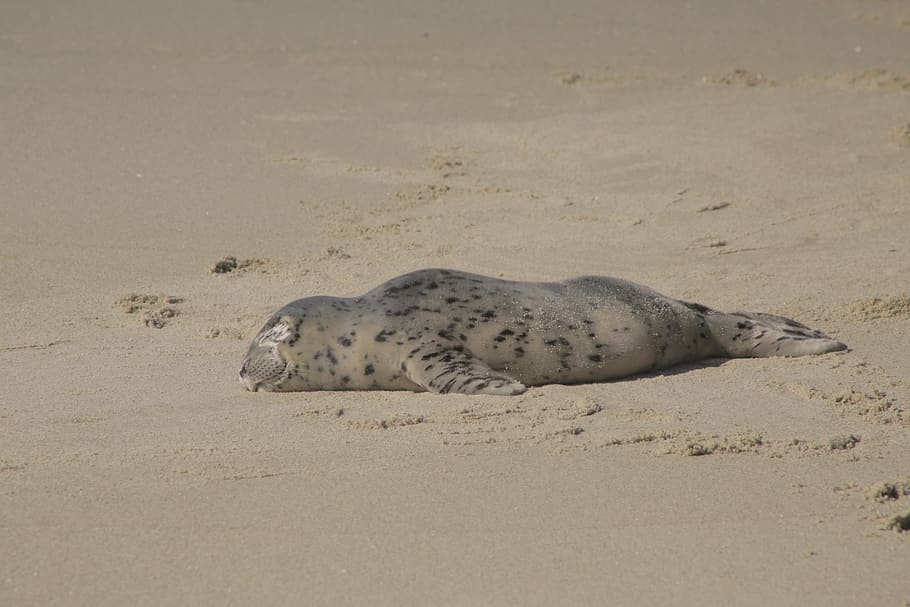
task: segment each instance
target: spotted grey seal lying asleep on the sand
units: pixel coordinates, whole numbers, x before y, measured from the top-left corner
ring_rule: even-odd
[[[514,395],[706,358],[846,348],[789,318],[719,312],[618,278],[514,282],[429,269],[360,297],[287,304],[253,339],[240,382],[252,391]]]

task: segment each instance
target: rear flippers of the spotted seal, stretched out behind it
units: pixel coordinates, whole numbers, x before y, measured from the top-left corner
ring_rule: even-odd
[[[705,320],[717,344],[731,358],[806,356],[847,349],[821,331],[783,316],[712,310]]]

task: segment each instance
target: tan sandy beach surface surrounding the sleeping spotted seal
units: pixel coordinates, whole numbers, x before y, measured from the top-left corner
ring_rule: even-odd
[[[4,2],[0,109],[0,604],[910,602],[905,1]],[[433,266],[852,349],[241,390]]]

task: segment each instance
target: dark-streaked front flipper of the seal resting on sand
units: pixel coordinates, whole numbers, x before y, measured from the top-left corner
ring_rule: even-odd
[[[424,344],[408,353],[402,368],[412,382],[429,392],[512,396],[527,390],[524,384],[494,371],[458,344]]]

